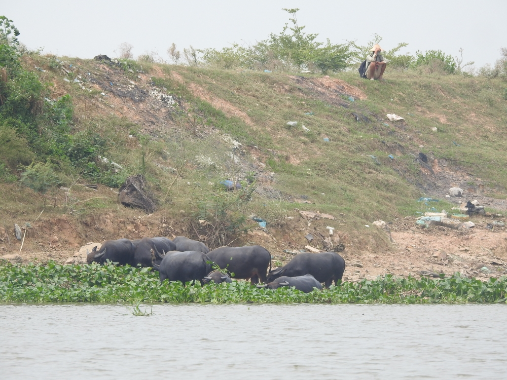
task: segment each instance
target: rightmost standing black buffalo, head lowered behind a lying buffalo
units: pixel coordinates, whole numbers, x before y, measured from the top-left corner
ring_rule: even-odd
[[[343,277],[345,260],[335,252],[297,254],[286,265],[277,268],[268,274],[268,283],[281,276],[296,277],[307,274],[312,275],[318,282],[323,282],[329,288],[334,281],[335,285]]]

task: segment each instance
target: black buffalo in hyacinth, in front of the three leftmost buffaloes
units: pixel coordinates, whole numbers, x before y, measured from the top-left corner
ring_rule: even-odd
[[[160,257],[154,252],[154,259]],[[208,257],[199,251],[169,251],[166,252],[160,265],[153,263],[153,268],[158,269],[160,281],[181,281],[185,284],[188,281],[198,280],[201,282],[211,270]]]

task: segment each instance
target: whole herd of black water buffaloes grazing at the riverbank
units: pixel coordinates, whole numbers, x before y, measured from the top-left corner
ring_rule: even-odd
[[[219,247],[210,251],[201,242],[185,236],[173,240],[142,238],[107,240],[100,249],[87,252],[88,263],[107,260],[119,265],[152,267],[160,281],[199,281],[207,284],[250,280],[258,288],[295,287],[305,293],[337,284],[345,271],[345,260],[336,252],[299,253],[286,265],[271,270],[271,254],[260,245]],[[269,270],[268,270],[269,267]],[[229,275],[230,274],[230,275]],[[260,284],[261,283],[261,284]]]

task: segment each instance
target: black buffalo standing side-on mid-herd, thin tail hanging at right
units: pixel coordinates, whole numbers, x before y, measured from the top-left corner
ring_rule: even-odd
[[[257,284],[259,279],[266,282],[266,272],[271,270],[271,254],[260,245],[247,247],[219,247],[210,251],[207,256],[211,261],[234,273],[234,278],[250,279]]]

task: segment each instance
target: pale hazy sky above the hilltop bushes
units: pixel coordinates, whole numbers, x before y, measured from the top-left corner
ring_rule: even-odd
[[[366,44],[378,33],[384,49],[407,42],[405,52],[441,49],[455,56],[463,48],[464,60],[476,67],[494,63],[507,47],[507,0],[17,0],[2,4],[0,15],[14,20],[30,49],[115,57],[114,50],[128,42],[135,55],[156,50],[168,59],[173,42],[183,49],[264,40],[288,21],[282,8],[300,8],[299,24],[319,33],[320,41]]]

